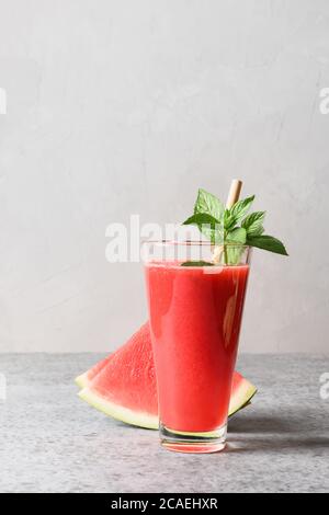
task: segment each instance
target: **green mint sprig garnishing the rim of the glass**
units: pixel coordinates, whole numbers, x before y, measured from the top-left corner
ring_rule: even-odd
[[[265,211],[249,213],[254,195],[238,201],[230,209],[212,193],[198,190],[194,214],[184,225],[196,225],[212,243],[223,247],[225,264],[237,264],[242,249],[239,245],[257,247],[281,255],[288,255],[284,244],[264,234]],[[234,247],[230,247],[234,245]]]

